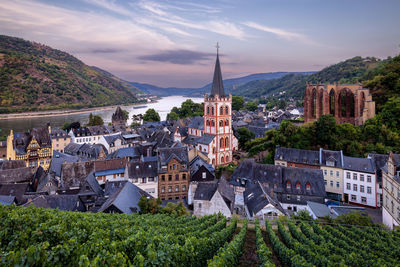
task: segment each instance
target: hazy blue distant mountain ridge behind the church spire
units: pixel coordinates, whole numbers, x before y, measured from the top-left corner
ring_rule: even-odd
[[[224,88],[226,93],[233,92],[236,87],[243,85],[247,82],[254,80],[271,80],[278,79],[287,74],[310,74],[313,72],[270,72],[270,73],[256,73],[239,78],[226,79],[224,80]],[[178,88],[178,87],[158,87],[151,84],[135,83],[131,84],[140,90],[157,96],[169,96],[169,95],[183,95],[183,96],[198,96],[201,97],[204,93],[211,91],[212,83],[209,83],[200,88]]]

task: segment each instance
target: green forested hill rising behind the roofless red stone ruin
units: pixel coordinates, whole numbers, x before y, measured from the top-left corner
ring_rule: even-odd
[[[234,89],[233,95],[241,95],[249,98],[272,96],[285,91],[286,97],[302,99],[306,82],[320,83],[357,83],[371,78],[372,73],[385,60],[376,58],[354,57],[338,64],[324,68],[313,74],[288,74],[273,80],[257,80],[246,83]]]

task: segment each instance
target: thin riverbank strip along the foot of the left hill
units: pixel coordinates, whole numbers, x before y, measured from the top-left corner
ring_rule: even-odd
[[[61,109],[61,110],[46,110],[46,111],[33,111],[33,112],[22,112],[22,113],[8,113],[0,114],[0,120],[10,120],[10,119],[27,119],[27,118],[42,118],[42,117],[54,117],[61,115],[72,115],[72,114],[84,114],[89,112],[99,112],[116,109],[118,106],[139,106],[155,103],[157,101],[152,101],[148,103],[135,103],[135,104],[124,104],[124,105],[113,105],[105,107],[94,107],[94,108],[83,108],[83,109]]]

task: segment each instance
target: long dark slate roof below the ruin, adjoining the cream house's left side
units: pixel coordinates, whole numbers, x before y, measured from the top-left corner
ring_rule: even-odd
[[[320,162],[319,151],[278,146],[275,150],[275,160],[284,160],[308,165],[319,165]]]

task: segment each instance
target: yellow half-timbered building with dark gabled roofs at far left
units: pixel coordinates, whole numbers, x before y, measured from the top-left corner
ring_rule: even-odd
[[[48,128],[33,128],[30,132],[11,130],[7,137],[7,159],[24,160],[27,167],[50,166],[53,150]]]

